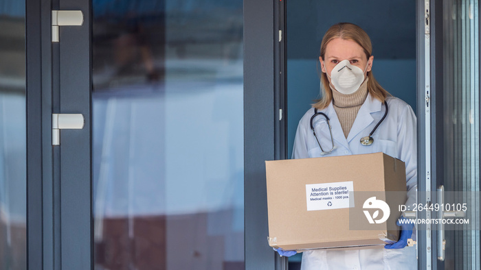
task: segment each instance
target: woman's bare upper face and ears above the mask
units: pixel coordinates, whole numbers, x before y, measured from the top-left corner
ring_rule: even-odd
[[[372,69],[374,56],[367,59],[366,53],[364,53],[362,47],[353,40],[345,40],[342,38],[331,40],[326,45],[324,61],[319,57],[321,70],[329,75],[329,82],[331,82],[331,71],[333,71],[334,66],[339,64],[342,60],[349,60],[350,64],[359,67],[361,70],[366,69],[367,64],[368,67],[364,73],[364,78],[366,78],[366,74]]]

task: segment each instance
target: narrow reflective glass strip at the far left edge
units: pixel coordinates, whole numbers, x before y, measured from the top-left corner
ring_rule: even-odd
[[[25,1],[0,3],[0,269],[27,269]]]

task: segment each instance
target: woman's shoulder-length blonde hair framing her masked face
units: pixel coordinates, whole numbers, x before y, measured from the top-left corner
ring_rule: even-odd
[[[369,60],[371,57],[372,53],[372,45],[371,45],[371,40],[364,32],[361,27],[353,24],[353,23],[337,23],[331,28],[329,28],[324,34],[324,38],[322,38],[321,42],[321,50],[320,50],[320,56],[322,60],[324,61],[324,55],[326,53],[326,47],[331,40],[335,38],[342,38],[344,40],[353,40],[359,46],[361,46],[364,50],[364,53],[366,53],[366,58]],[[390,93],[386,91],[377,81],[374,79],[374,75],[372,75],[372,71],[369,71],[367,73],[368,76],[368,92],[370,93],[371,97],[374,97],[376,99],[379,99],[379,101],[384,102],[385,98],[390,96]],[[329,106],[329,103],[331,103],[333,99],[333,92],[331,90],[331,87],[329,86],[329,80],[327,78],[326,73],[322,72],[321,74],[321,82],[322,82],[322,89],[321,89],[321,94],[322,97],[321,99],[318,99],[316,103],[313,104],[314,108],[317,108],[317,110],[322,110]]]

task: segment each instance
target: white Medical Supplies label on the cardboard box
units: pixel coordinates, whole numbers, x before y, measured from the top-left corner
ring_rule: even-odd
[[[307,210],[326,210],[354,207],[349,204],[353,181],[325,184],[306,184]],[[353,194],[353,193],[351,193]],[[351,201],[351,204],[353,204]]]

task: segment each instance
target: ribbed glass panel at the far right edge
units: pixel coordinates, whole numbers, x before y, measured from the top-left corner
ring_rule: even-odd
[[[478,1],[445,0],[444,173],[445,191],[480,191]],[[480,205],[479,197],[469,198]],[[469,209],[479,220],[479,209]],[[445,269],[480,269],[480,232],[446,232]]]

